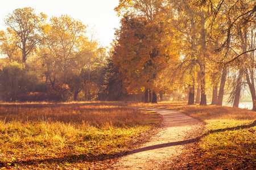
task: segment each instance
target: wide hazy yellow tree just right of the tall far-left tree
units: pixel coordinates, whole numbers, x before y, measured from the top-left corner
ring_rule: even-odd
[[[46,82],[52,87],[57,82],[68,84],[73,100],[82,91],[87,100],[95,99],[102,81],[105,48],[86,35],[84,24],[68,15],[52,17],[43,31],[39,56]]]

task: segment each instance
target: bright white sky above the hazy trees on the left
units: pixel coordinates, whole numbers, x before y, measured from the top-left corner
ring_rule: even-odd
[[[81,20],[97,32],[103,46],[110,46],[114,39],[114,28],[119,28],[119,18],[114,11],[119,0],[0,0],[0,30],[5,30],[3,19],[16,8],[32,7],[39,14],[51,16],[67,14]]]

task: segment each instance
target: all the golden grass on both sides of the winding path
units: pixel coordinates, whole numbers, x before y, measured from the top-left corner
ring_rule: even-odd
[[[187,103],[2,103],[0,168],[109,169],[125,151],[150,139],[166,108],[204,122],[175,163],[163,169],[256,169],[256,112]]]

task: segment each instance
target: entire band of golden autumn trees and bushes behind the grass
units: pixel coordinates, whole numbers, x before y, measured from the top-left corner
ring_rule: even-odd
[[[1,98],[222,105],[225,96],[238,107],[243,94],[256,100],[255,10],[247,0],[120,0],[106,49],[79,20],[18,8],[0,32]]]

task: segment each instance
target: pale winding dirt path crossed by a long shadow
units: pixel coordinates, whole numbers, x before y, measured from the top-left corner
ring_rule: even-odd
[[[163,116],[163,128],[137,150],[129,151],[119,159],[114,169],[160,169],[164,162],[181,154],[184,145],[195,142],[186,135],[200,123],[187,114],[167,109],[144,108]]]

